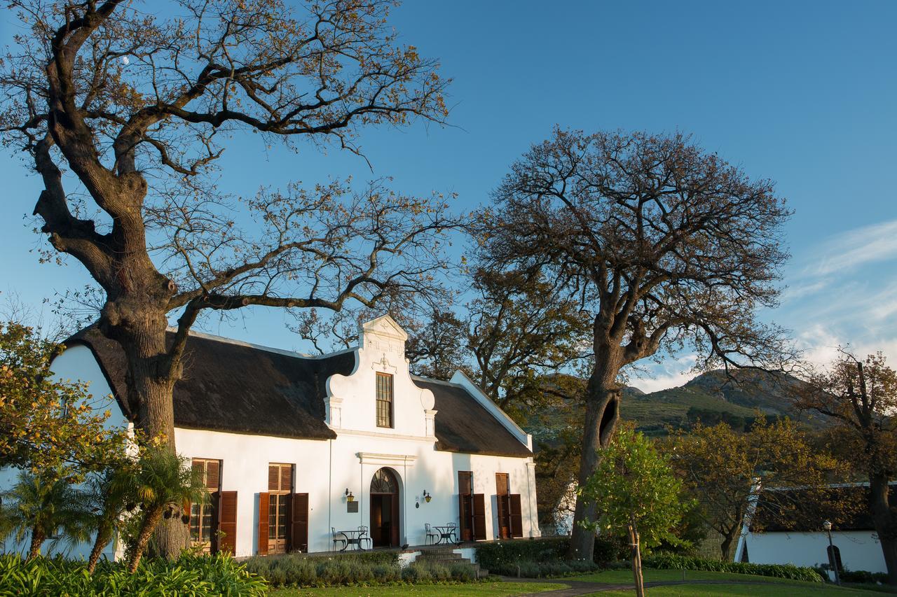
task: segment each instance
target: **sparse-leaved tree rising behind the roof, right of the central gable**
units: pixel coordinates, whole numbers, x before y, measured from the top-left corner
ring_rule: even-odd
[[[438,309],[412,321],[408,356],[424,376],[461,369],[518,422],[569,399],[559,371],[588,357],[581,341],[588,316],[575,300],[558,299],[540,272],[491,272],[477,267],[464,316]]]

